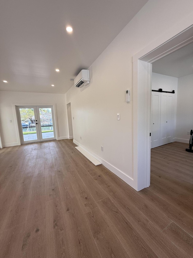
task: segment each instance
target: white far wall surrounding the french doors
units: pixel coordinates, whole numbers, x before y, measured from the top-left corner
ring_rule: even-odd
[[[68,138],[64,94],[0,91],[0,131],[4,147],[18,145],[12,103],[56,104],[59,139]],[[9,122],[12,120],[12,123]]]

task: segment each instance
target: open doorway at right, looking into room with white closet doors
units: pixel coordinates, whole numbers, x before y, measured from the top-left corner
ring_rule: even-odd
[[[184,200],[192,190],[192,155],[185,152],[193,128],[192,60],[193,43],[190,43],[153,62],[152,66],[150,183],[156,193],[178,196],[178,201],[186,207],[191,204],[185,204]],[[160,88],[163,92],[156,92]],[[177,206],[178,201],[172,205]],[[184,207],[180,208],[184,211]]]

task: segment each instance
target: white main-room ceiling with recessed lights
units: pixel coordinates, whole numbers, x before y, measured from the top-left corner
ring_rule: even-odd
[[[146,2],[1,0],[0,90],[66,93]]]

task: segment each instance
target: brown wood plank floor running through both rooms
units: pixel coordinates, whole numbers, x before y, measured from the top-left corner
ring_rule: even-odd
[[[139,192],[72,140],[0,149],[1,258],[193,257],[193,153],[151,150]]]

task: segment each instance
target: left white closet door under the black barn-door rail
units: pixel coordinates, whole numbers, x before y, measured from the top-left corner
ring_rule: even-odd
[[[160,146],[160,108],[161,108],[161,93],[152,92],[151,148]]]

